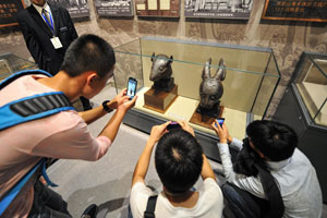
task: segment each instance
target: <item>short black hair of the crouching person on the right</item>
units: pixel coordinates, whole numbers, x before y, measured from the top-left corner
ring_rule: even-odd
[[[254,121],[246,128],[254,147],[271,161],[290,158],[298,146],[296,133],[287,124],[274,121]]]

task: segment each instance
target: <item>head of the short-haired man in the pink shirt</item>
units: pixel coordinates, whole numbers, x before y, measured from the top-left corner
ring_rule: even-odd
[[[113,48],[96,35],[83,35],[68,48],[61,71],[70,77],[85,77],[83,96],[90,98],[98,94],[113,75],[116,57]]]

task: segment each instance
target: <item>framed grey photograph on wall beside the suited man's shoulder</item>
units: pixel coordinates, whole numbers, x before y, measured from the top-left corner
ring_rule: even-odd
[[[47,0],[50,3],[65,8],[71,17],[89,16],[89,7],[87,0]]]

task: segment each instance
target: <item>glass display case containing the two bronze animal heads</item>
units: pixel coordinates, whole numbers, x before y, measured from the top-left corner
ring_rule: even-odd
[[[144,132],[149,132],[154,124],[167,120],[191,120],[199,104],[202,72],[209,58],[211,75],[218,69],[227,71],[226,80],[222,81],[223,95],[220,102],[225,109],[221,117],[225,118],[231,135],[238,138],[245,136],[249,122],[265,118],[280,80],[275,56],[269,48],[143,37],[119,46],[114,51],[117,90],[126,87],[130,76],[138,81],[138,99],[124,122]],[[145,107],[144,96],[154,84],[149,80],[154,53],[166,55],[172,60],[171,76],[178,86],[178,97],[165,111]],[[225,60],[226,66],[218,65],[220,58]],[[204,149],[210,158],[217,159],[216,148],[210,149],[210,146],[216,147],[215,132],[208,126],[192,122],[191,125],[198,137],[210,141]]]

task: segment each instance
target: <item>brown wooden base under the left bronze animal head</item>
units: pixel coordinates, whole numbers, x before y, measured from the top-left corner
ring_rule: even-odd
[[[143,107],[160,113],[165,113],[169,106],[173,104],[177,97],[178,85],[174,85],[174,87],[169,93],[164,90],[157,92],[155,88],[150,88],[144,94]]]

